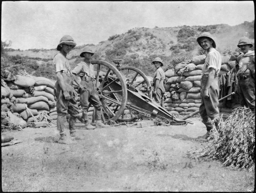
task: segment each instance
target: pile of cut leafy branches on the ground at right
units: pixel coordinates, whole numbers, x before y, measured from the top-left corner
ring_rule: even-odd
[[[255,166],[255,114],[246,107],[236,108],[219,123],[219,135],[203,149],[194,148],[189,157],[221,160],[224,166],[252,171]]]

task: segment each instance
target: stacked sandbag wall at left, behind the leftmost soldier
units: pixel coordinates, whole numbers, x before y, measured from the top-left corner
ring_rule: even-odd
[[[52,120],[57,119],[54,96],[55,82],[44,77],[24,75],[16,75],[15,77],[15,80],[12,81],[2,80],[2,111],[10,110],[14,115],[27,122],[34,121],[32,115],[37,116],[40,111],[45,111]]]

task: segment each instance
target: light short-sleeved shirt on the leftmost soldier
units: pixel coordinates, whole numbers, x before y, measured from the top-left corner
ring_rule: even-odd
[[[61,72],[62,73],[69,73],[69,70],[71,71],[69,61],[62,53],[57,53],[53,58],[53,65],[56,67],[56,73]],[[69,70],[68,70],[69,68]]]

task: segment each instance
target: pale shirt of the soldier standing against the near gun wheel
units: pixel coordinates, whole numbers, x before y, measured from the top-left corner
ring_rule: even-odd
[[[76,65],[76,67],[72,70],[72,73],[75,75],[79,75],[80,77],[91,77],[95,78],[93,64],[89,63],[89,66],[84,62],[80,62]]]

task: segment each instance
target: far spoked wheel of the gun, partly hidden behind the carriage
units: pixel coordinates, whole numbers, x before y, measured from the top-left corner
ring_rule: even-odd
[[[127,83],[129,83],[131,86],[133,87],[138,87],[140,84],[142,84],[143,82],[145,82],[147,84],[147,94],[149,98],[152,98],[152,89],[151,89],[151,83],[148,80],[148,77],[138,68],[135,67],[129,67],[129,66],[122,66],[120,67],[120,71],[123,73],[123,75],[125,76],[125,78],[129,79],[129,81]],[[138,75],[140,75],[143,80],[139,83],[136,83],[135,80],[137,77],[139,77]]]

